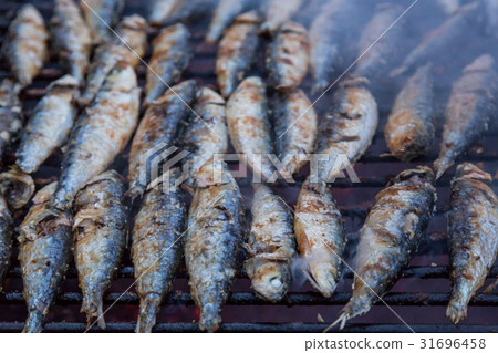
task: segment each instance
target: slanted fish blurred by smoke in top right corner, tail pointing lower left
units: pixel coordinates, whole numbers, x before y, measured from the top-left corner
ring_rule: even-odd
[[[479,28],[480,3],[475,1],[459,8],[438,28],[429,32],[421,43],[404,59],[400,68],[391,72],[391,76],[397,76],[413,68],[423,65],[430,60],[447,56],[448,52],[458,48],[458,43],[469,33],[475,33]]]

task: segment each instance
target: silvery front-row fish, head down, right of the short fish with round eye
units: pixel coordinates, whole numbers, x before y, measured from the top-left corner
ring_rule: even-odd
[[[319,190],[309,179],[303,183],[295,205],[294,231],[299,253],[307,263],[305,277],[330,298],[341,278],[346,236],[329,188]]]

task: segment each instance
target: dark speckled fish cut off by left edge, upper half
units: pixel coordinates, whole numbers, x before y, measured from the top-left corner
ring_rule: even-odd
[[[18,87],[12,80],[3,79],[0,84],[0,162],[18,137],[22,121]]]

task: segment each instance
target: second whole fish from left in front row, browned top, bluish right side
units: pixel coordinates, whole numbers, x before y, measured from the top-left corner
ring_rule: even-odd
[[[74,200],[74,262],[83,292],[86,324],[97,318],[105,329],[102,297],[120,266],[126,246],[124,186],[115,170],[104,172],[83,187]]]

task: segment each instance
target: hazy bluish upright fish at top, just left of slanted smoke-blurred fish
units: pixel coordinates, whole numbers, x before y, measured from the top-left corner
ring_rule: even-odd
[[[357,76],[382,77],[403,60],[406,48],[406,25],[400,23],[395,31],[382,35],[404,12],[404,8],[393,3],[376,7],[373,19],[366,24],[359,43],[359,53],[364,53],[357,61]],[[403,21],[403,20],[401,20]],[[378,39],[381,38],[381,39]],[[372,46],[372,43],[375,45]]]

